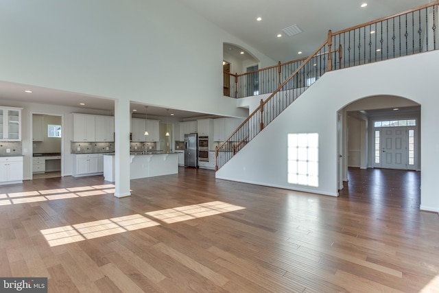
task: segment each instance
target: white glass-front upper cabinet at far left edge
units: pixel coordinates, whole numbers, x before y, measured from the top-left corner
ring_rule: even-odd
[[[21,108],[0,107],[0,141],[21,141]]]

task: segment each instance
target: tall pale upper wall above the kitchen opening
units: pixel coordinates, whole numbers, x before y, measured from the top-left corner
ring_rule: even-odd
[[[223,97],[223,43],[275,64],[177,0],[5,0],[0,35],[0,80],[215,115],[247,114]]]

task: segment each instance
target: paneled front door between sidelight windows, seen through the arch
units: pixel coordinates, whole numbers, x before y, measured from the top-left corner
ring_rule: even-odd
[[[407,128],[383,127],[381,130],[381,167],[407,169]]]

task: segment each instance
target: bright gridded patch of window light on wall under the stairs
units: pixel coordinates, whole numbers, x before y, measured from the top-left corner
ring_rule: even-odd
[[[318,187],[318,133],[288,134],[288,183]]]

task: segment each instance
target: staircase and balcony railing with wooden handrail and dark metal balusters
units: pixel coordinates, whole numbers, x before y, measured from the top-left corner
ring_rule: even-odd
[[[279,62],[241,75],[224,73],[224,93],[228,84],[232,97],[272,94],[265,101],[261,99],[241,126],[217,146],[216,169],[244,148],[325,72],[439,49],[438,6],[439,1],[434,1],[339,32],[330,30],[327,40],[308,58]],[[254,84],[259,86],[256,88]]]

